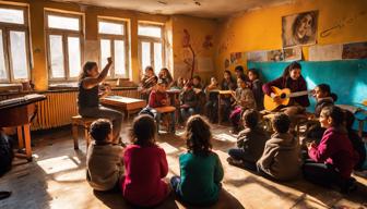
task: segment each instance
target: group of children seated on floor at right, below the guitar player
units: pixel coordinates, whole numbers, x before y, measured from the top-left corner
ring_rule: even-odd
[[[245,130],[238,135],[238,148],[228,151],[230,164],[257,171],[275,181],[293,180],[301,171],[307,181],[325,186],[338,185],[342,193],[355,188],[351,174],[353,170],[362,169],[366,150],[360,137],[351,130],[353,113],[335,106],[324,107],[319,122],[325,131],[320,143],[307,144],[306,159],[301,158],[299,142],[288,132],[288,115],[275,114],[271,137],[259,126],[258,119],[256,110],[245,111]]]

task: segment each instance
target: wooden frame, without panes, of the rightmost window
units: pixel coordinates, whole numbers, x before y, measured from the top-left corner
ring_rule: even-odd
[[[151,66],[155,69],[155,63],[154,63],[154,42],[158,42],[162,45],[162,66],[164,67],[166,65],[166,53],[165,53],[165,42],[164,42],[164,35],[165,35],[165,25],[163,23],[151,23],[151,22],[144,22],[144,21],[139,21],[138,22],[138,30],[139,26],[156,26],[161,27],[161,38],[156,38],[153,36],[144,36],[144,35],[139,35],[138,34],[138,51],[139,51],[139,65],[141,69],[141,75],[144,74],[144,70],[146,66],[143,66],[142,64],[142,42],[150,42],[151,44]]]

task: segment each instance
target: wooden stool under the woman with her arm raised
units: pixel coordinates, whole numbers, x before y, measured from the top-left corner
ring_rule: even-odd
[[[95,121],[94,118],[83,118],[81,115],[72,116],[71,118],[71,126],[72,126],[72,136],[74,139],[74,149],[79,149],[79,143],[78,143],[78,127],[82,126],[84,130],[84,138],[86,144],[86,149],[90,146],[91,138],[88,136],[90,134],[90,126]]]

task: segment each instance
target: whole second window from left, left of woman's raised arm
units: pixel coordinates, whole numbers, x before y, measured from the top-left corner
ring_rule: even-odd
[[[82,16],[46,12],[50,81],[76,79],[82,69]]]

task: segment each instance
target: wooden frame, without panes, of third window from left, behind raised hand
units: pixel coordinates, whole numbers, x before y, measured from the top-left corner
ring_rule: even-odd
[[[115,23],[115,24],[122,24],[123,25],[123,34],[122,35],[116,35],[116,34],[100,34],[99,33],[99,22],[107,22],[107,23]],[[107,75],[107,79],[116,79],[116,78],[130,78],[130,59],[129,59],[129,29],[128,29],[128,22],[123,19],[116,19],[116,17],[109,17],[109,16],[98,16],[97,17],[97,37],[98,37],[98,63],[100,67],[105,67],[102,65],[102,49],[100,49],[100,40],[102,39],[108,39],[110,41],[110,57],[113,58],[114,63],[115,62],[115,40],[122,40],[125,45],[125,76],[123,75],[116,75],[115,73],[115,64],[109,70],[109,75]]]

